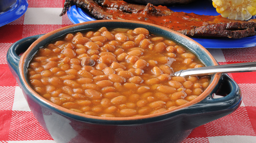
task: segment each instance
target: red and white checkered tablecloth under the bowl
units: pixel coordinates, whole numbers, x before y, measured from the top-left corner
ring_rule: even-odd
[[[9,47],[22,38],[44,34],[73,24],[60,17],[63,0],[28,0],[17,20],[0,27],[0,143],[55,143],[34,118],[6,61]],[[256,47],[207,49],[219,64],[256,60]],[[243,102],[230,115],[197,127],[182,143],[255,143],[256,73],[229,74],[242,90]]]

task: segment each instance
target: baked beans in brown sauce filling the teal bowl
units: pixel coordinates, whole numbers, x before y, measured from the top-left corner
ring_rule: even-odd
[[[69,33],[40,48],[28,67],[32,88],[75,112],[133,117],[196,99],[210,77],[173,76],[204,66],[180,44],[145,28]]]

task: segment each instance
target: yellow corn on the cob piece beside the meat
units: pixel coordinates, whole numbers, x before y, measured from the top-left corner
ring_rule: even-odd
[[[256,15],[256,0],[212,0],[212,5],[229,19],[249,20]]]

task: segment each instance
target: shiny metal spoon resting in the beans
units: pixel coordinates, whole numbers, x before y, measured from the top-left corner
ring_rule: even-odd
[[[217,66],[208,66],[201,68],[194,68],[188,70],[180,70],[174,73],[174,76],[195,76],[195,75],[209,75],[220,73],[234,73],[234,72],[250,72],[256,71],[256,62],[226,64]]]

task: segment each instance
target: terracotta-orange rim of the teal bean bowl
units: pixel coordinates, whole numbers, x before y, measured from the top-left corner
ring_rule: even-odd
[[[181,33],[178,33],[176,31],[170,30],[168,28],[165,28],[165,27],[162,27],[162,26],[158,26],[158,25],[155,25],[155,24],[149,24],[149,23],[138,22],[138,21],[130,21],[130,20],[96,20],[96,21],[89,21],[89,22],[84,22],[84,23],[80,23],[80,24],[73,24],[73,25],[69,25],[69,26],[66,26],[66,27],[62,27],[62,28],[56,29],[54,31],[51,31],[51,32],[43,35],[42,37],[40,37],[39,39],[34,41],[31,44],[31,46],[26,50],[26,52],[24,52],[24,54],[21,56],[20,62],[19,62],[19,68],[18,68],[20,76],[21,76],[21,81],[23,81],[24,86],[27,88],[27,90],[29,92],[31,92],[31,95],[34,96],[34,98],[36,98],[38,101],[40,101],[40,102],[42,102],[42,103],[52,107],[57,112],[61,111],[63,113],[67,113],[68,115],[71,115],[71,116],[73,115],[73,116],[79,116],[79,117],[83,117],[83,118],[87,118],[87,119],[96,119],[96,120],[120,120],[120,121],[121,120],[139,120],[139,119],[148,119],[148,118],[158,117],[158,116],[161,116],[161,115],[166,115],[166,114],[169,114],[169,113],[181,110],[182,108],[185,108],[185,107],[191,106],[193,104],[196,104],[196,103],[202,101],[204,98],[206,98],[210,94],[212,89],[217,85],[217,83],[218,83],[218,81],[219,81],[219,79],[221,77],[220,74],[215,74],[215,76],[213,76],[213,78],[211,79],[211,83],[206,88],[206,90],[203,91],[203,93],[200,96],[198,96],[196,99],[194,99],[193,101],[190,101],[189,103],[183,104],[183,105],[178,106],[176,108],[173,108],[171,110],[167,110],[167,111],[160,112],[160,113],[155,113],[155,114],[150,114],[150,115],[137,116],[137,117],[98,117],[98,116],[92,116],[92,115],[86,115],[86,114],[83,114],[83,113],[78,113],[78,112],[66,109],[64,107],[61,107],[59,105],[56,105],[56,104],[46,100],[45,98],[40,96],[38,93],[36,93],[30,87],[30,85],[27,82],[26,77],[25,77],[25,75],[27,75],[27,73],[24,72],[24,68],[26,67],[26,65],[24,65],[25,64],[24,61],[27,60],[28,54],[32,51],[34,46],[36,46],[40,41],[44,40],[48,36],[50,36],[50,35],[52,35],[54,33],[57,33],[59,31],[62,31],[64,29],[68,29],[68,28],[79,26],[79,25],[83,25],[83,24],[94,24],[94,23],[96,24],[96,23],[102,23],[102,22],[103,23],[104,22],[122,22],[122,23],[124,22],[124,23],[145,24],[145,25],[155,26],[155,27],[161,28],[163,30],[166,30],[168,32],[171,32],[171,33],[174,33],[174,34],[176,34],[178,36],[181,36],[182,38],[184,38],[186,40],[189,40],[189,41],[192,41],[192,42],[196,43],[205,53],[208,54],[208,56],[211,58],[211,61],[213,62],[213,64],[214,65],[218,65],[218,62],[215,60],[215,58],[202,45],[200,45],[198,42],[192,40],[191,38],[189,38],[189,37],[187,37],[187,36],[185,36],[185,35],[183,35]]]

